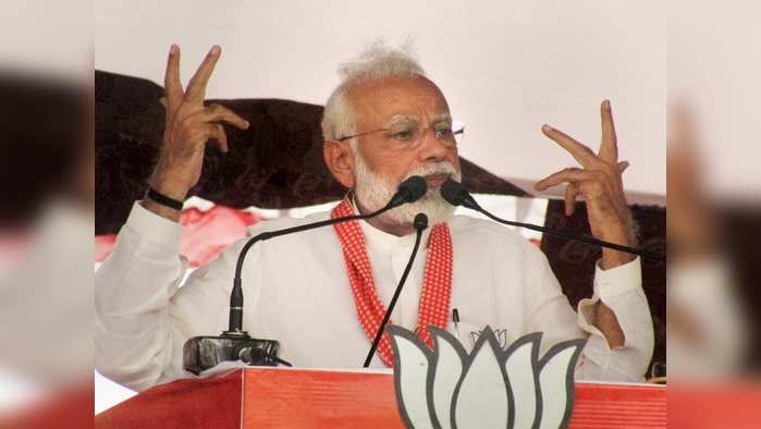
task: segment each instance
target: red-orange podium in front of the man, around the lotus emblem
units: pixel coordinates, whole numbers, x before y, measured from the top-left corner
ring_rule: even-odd
[[[664,385],[577,382],[572,428],[666,427]],[[148,389],[95,418],[111,428],[404,428],[390,372],[251,367]]]

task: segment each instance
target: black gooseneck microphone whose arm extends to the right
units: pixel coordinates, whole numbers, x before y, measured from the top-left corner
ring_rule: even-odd
[[[615,243],[603,242],[602,240],[598,240],[594,237],[570,234],[567,232],[556,231],[556,230],[552,230],[550,228],[539,226],[539,225],[535,225],[531,223],[515,222],[515,221],[508,221],[505,219],[498,218],[496,216],[490,213],[483,207],[481,207],[476,201],[476,199],[472,197],[472,195],[470,195],[470,193],[465,188],[465,186],[463,186],[461,183],[455,182],[451,179],[449,179],[446,182],[444,182],[444,184],[441,186],[441,196],[444,197],[444,199],[453,206],[463,206],[463,207],[469,208],[471,210],[476,210],[480,213],[486,214],[489,219],[491,219],[495,222],[500,222],[500,223],[504,223],[504,224],[513,225],[513,226],[526,228],[528,230],[539,231],[539,232],[542,232],[542,233],[545,233],[549,235],[555,235],[555,236],[563,237],[566,240],[575,240],[575,241],[581,242],[581,243],[596,244],[598,246],[612,248],[612,249],[615,249],[618,252],[625,252],[627,254],[639,255],[643,258],[648,258],[648,259],[652,259],[652,260],[656,260],[656,261],[661,261],[661,262],[665,262],[665,260],[666,260],[664,255],[661,255],[661,254],[655,253],[655,252],[623,246],[621,244],[615,244]]]

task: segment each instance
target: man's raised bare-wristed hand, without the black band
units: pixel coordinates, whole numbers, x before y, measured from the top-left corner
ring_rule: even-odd
[[[618,144],[610,101],[602,102],[600,115],[602,119],[602,143],[598,154],[550,125],[542,126],[544,135],[570,152],[582,168],[563,169],[537,182],[535,188],[544,191],[548,187],[566,183],[566,216],[574,213],[576,198],[580,195],[587,201],[587,216],[594,237],[625,246],[634,246],[634,225],[622,182],[622,173],[629,163],[618,161]],[[603,269],[613,268],[628,262],[633,258],[630,255],[603,248],[601,266]]]

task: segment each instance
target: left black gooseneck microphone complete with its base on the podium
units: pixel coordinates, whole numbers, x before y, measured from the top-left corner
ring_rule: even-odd
[[[336,223],[352,220],[370,219],[394,209],[403,204],[415,203],[428,192],[426,180],[419,175],[403,181],[391,197],[389,203],[382,208],[367,214],[353,214],[343,218],[327,219],[319,222],[303,224],[298,226],[285,228],[278,231],[268,231],[258,234],[243,246],[235,266],[235,278],[233,279],[233,290],[230,293],[230,317],[228,330],[219,336],[194,336],[189,339],[183,347],[183,367],[198,375],[201,371],[212,368],[224,360],[243,360],[248,365],[275,366],[291,364],[278,357],[280,343],[274,340],[258,340],[248,335],[243,330],[243,262],[248,250],[258,242],[270,240],[277,236],[293,234],[296,232],[314,230]],[[417,222],[417,218],[415,219]],[[426,220],[427,221],[427,220]]]

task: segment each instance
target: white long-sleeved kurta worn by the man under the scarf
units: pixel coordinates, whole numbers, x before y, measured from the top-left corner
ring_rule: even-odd
[[[250,228],[263,231],[328,219],[278,219]],[[360,222],[380,299],[388,306],[415,243]],[[579,303],[578,315],[563,295],[544,255],[517,233],[491,221],[455,216],[450,221],[454,267],[452,308],[458,333],[471,348],[489,324],[508,344],[544,332],[542,352],[562,341],[589,338],[577,379],[640,381],[653,351],[653,328],[641,285],[639,259],[611,270],[599,267],[594,296]],[[430,231],[427,230],[427,231]],[[187,263],[180,256],[182,226],[136,203],[111,256],[96,273],[96,368],[116,382],[143,390],[176,378],[183,344],[195,335],[228,328],[235,262],[245,238],[195,270],[181,286]],[[427,243],[428,233],[422,243]],[[392,321],[417,324],[427,250],[416,261]],[[278,340],[280,356],[296,367],[360,367],[370,346],[346,275],[341,244],[332,226],[260,242],[243,269],[244,329]],[[626,335],[611,350],[592,326],[592,305],[602,299]],[[450,332],[455,332],[450,323]],[[383,366],[376,355],[373,366]]]

